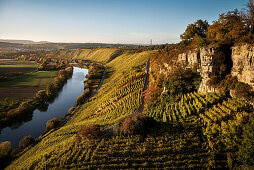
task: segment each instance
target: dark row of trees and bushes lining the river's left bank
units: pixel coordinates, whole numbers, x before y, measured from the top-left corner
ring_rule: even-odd
[[[47,84],[46,89],[39,90],[33,99],[1,108],[0,128],[22,124],[31,119],[35,109],[44,110],[48,103],[57,97],[65,82],[71,78],[72,72],[72,67],[60,70],[53,81]]]

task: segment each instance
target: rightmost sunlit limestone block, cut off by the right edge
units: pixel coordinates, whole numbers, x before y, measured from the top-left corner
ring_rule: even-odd
[[[232,47],[232,61],[231,74],[254,88],[254,46]]]

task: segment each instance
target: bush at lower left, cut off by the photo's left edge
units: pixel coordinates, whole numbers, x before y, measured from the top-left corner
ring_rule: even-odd
[[[10,159],[11,151],[11,142],[6,141],[0,143],[0,167],[6,162],[6,160]]]

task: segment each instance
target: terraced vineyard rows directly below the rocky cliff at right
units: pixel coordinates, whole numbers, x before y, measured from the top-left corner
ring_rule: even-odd
[[[161,122],[185,124],[198,120],[202,127],[203,145],[213,156],[213,167],[232,168],[237,161],[243,127],[249,122],[252,107],[225,94],[187,93],[174,104],[158,102],[146,114]]]

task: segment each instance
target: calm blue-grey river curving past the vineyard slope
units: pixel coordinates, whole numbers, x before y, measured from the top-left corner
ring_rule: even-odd
[[[84,80],[88,73],[87,69],[73,68],[72,78],[67,80],[55,100],[48,105],[46,111],[35,110],[27,122],[12,125],[1,130],[0,142],[11,141],[12,147],[17,148],[19,141],[31,135],[39,137],[46,128],[48,120],[54,116],[63,118],[70,107],[76,103],[76,98],[84,92]]]

